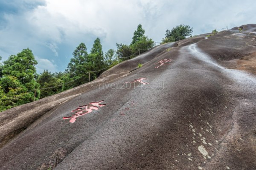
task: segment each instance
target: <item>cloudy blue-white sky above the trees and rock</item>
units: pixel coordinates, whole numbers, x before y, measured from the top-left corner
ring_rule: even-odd
[[[255,0],[0,0],[0,56],[30,48],[37,73],[65,71],[81,42],[90,52],[99,37],[105,53],[130,44],[139,24],[160,42],[180,24],[192,35],[256,24],[255,9]]]

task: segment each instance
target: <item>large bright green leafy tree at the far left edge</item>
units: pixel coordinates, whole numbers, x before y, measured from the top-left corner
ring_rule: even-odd
[[[11,55],[2,68],[1,86],[1,111],[25,104],[34,100],[34,89],[40,85],[35,80],[37,61],[32,51],[23,49],[17,55]],[[36,100],[40,91],[36,90]]]

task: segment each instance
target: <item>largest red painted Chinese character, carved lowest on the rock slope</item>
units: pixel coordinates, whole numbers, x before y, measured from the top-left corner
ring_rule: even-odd
[[[101,100],[99,102],[91,102],[89,103],[89,105],[84,105],[84,106],[79,106],[78,108],[76,108],[75,110],[72,110],[71,112],[76,112],[74,115],[69,116],[69,117],[63,117],[63,120],[65,119],[70,119],[69,122],[70,123],[74,123],[76,121],[76,118],[79,116],[83,116],[85,114],[91,113],[93,110],[98,110],[99,107],[103,107],[106,104],[100,104],[101,102],[103,102],[104,100]]]

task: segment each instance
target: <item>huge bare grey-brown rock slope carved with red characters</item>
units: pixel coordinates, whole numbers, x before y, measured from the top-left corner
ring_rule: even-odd
[[[1,112],[0,170],[256,169],[255,31],[163,44]]]

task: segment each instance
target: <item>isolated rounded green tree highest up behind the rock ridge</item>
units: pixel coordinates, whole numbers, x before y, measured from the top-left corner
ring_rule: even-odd
[[[183,24],[173,27],[171,31],[167,29],[165,37],[163,38],[161,44],[183,40],[186,36],[190,36],[192,32],[193,28],[190,28],[190,26],[185,26]]]

